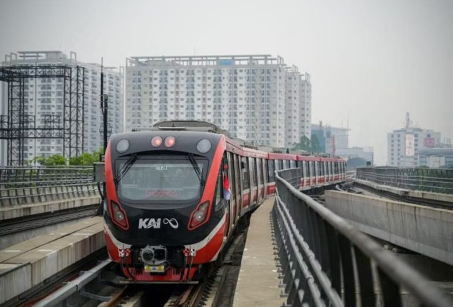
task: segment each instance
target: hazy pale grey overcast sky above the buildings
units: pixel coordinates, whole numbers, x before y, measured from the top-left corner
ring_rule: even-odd
[[[312,122],[347,126],[350,145],[387,161],[405,112],[453,139],[453,0],[0,0],[0,56],[272,54],[311,74]]]

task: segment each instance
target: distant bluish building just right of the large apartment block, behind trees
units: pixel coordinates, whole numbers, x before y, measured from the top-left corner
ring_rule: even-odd
[[[349,131],[347,128],[323,126],[312,124],[312,137],[316,136],[320,143],[322,152],[325,154],[337,154],[337,149],[347,149],[349,147]]]

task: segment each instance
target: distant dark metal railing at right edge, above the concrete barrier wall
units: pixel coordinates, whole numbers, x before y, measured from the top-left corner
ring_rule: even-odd
[[[364,167],[357,168],[357,179],[408,190],[453,193],[453,169]]]

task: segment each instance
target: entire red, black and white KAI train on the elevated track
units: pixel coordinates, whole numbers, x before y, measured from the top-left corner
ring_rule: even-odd
[[[285,168],[302,168],[301,189],[345,179],[340,158],[259,151],[205,127],[114,134],[105,156],[108,254],[131,282],[196,281]]]

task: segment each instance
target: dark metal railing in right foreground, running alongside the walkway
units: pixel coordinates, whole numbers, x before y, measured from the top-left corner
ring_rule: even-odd
[[[402,306],[404,288],[424,306],[453,306],[372,238],[297,191],[282,178],[288,170],[275,174],[273,218],[288,305],[377,306],[378,288],[385,306]]]

